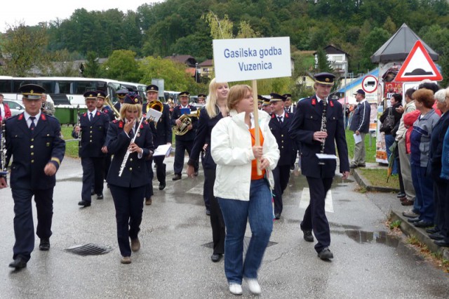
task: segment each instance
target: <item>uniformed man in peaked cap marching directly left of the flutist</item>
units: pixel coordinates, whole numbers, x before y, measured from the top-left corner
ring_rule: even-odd
[[[83,167],[83,187],[79,206],[91,206],[93,187],[97,199],[103,199],[103,180],[105,155],[107,154],[106,136],[109,128],[109,117],[97,109],[97,91],[84,93],[87,112],[81,115],[80,125],[75,126],[72,136],[78,138],[81,134],[79,157]]]

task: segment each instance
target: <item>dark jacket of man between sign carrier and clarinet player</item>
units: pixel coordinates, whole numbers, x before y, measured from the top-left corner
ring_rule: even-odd
[[[290,138],[290,134],[288,133],[288,129],[290,128],[290,124],[293,121],[293,114],[288,114],[287,112],[284,114],[282,124],[279,123],[275,114],[272,114],[272,119],[269,121],[269,128],[276,138],[276,142],[279,148],[279,157],[278,165],[285,166],[291,164],[292,154],[293,154],[293,140]]]

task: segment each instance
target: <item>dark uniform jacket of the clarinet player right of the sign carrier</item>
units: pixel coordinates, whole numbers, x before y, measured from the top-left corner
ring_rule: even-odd
[[[314,132],[321,131],[322,104],[316,96],[306,98],[297,104],[297,111],[290,126],[290,137],[301,148],[301,172],[311,178],[333,178],[337,161],[326,159],[324,165],[319,167],[316,154],[321,152],[321,142],[313,140]],[[335,154],[337,145],[340,157],[340,173],[349,171],[348,147],[343,124],[343,107],[340,102],[329,100],[326,109],[326,138],[324,153]]]

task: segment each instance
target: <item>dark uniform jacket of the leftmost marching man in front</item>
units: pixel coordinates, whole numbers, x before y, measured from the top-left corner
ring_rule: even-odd
[[[58,119],[41,113],[34,132],[27,126],[23,113],[6,120],[7,160],[11,165],[11,188],[44,190],[55,187],[56,175],[43,172],[47,163],[59,168],[65,154]]]

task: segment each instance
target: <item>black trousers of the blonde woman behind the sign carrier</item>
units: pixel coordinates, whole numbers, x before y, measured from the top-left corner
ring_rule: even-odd
[[[210,226],[212,227],[213,253],[225,253],[225,220],[222,210],[218,204],[217,197],[213,196],[213,185],[215,184],[215,169],[204,169],[204,177],[208,178],[207,189],[210,203]]]

